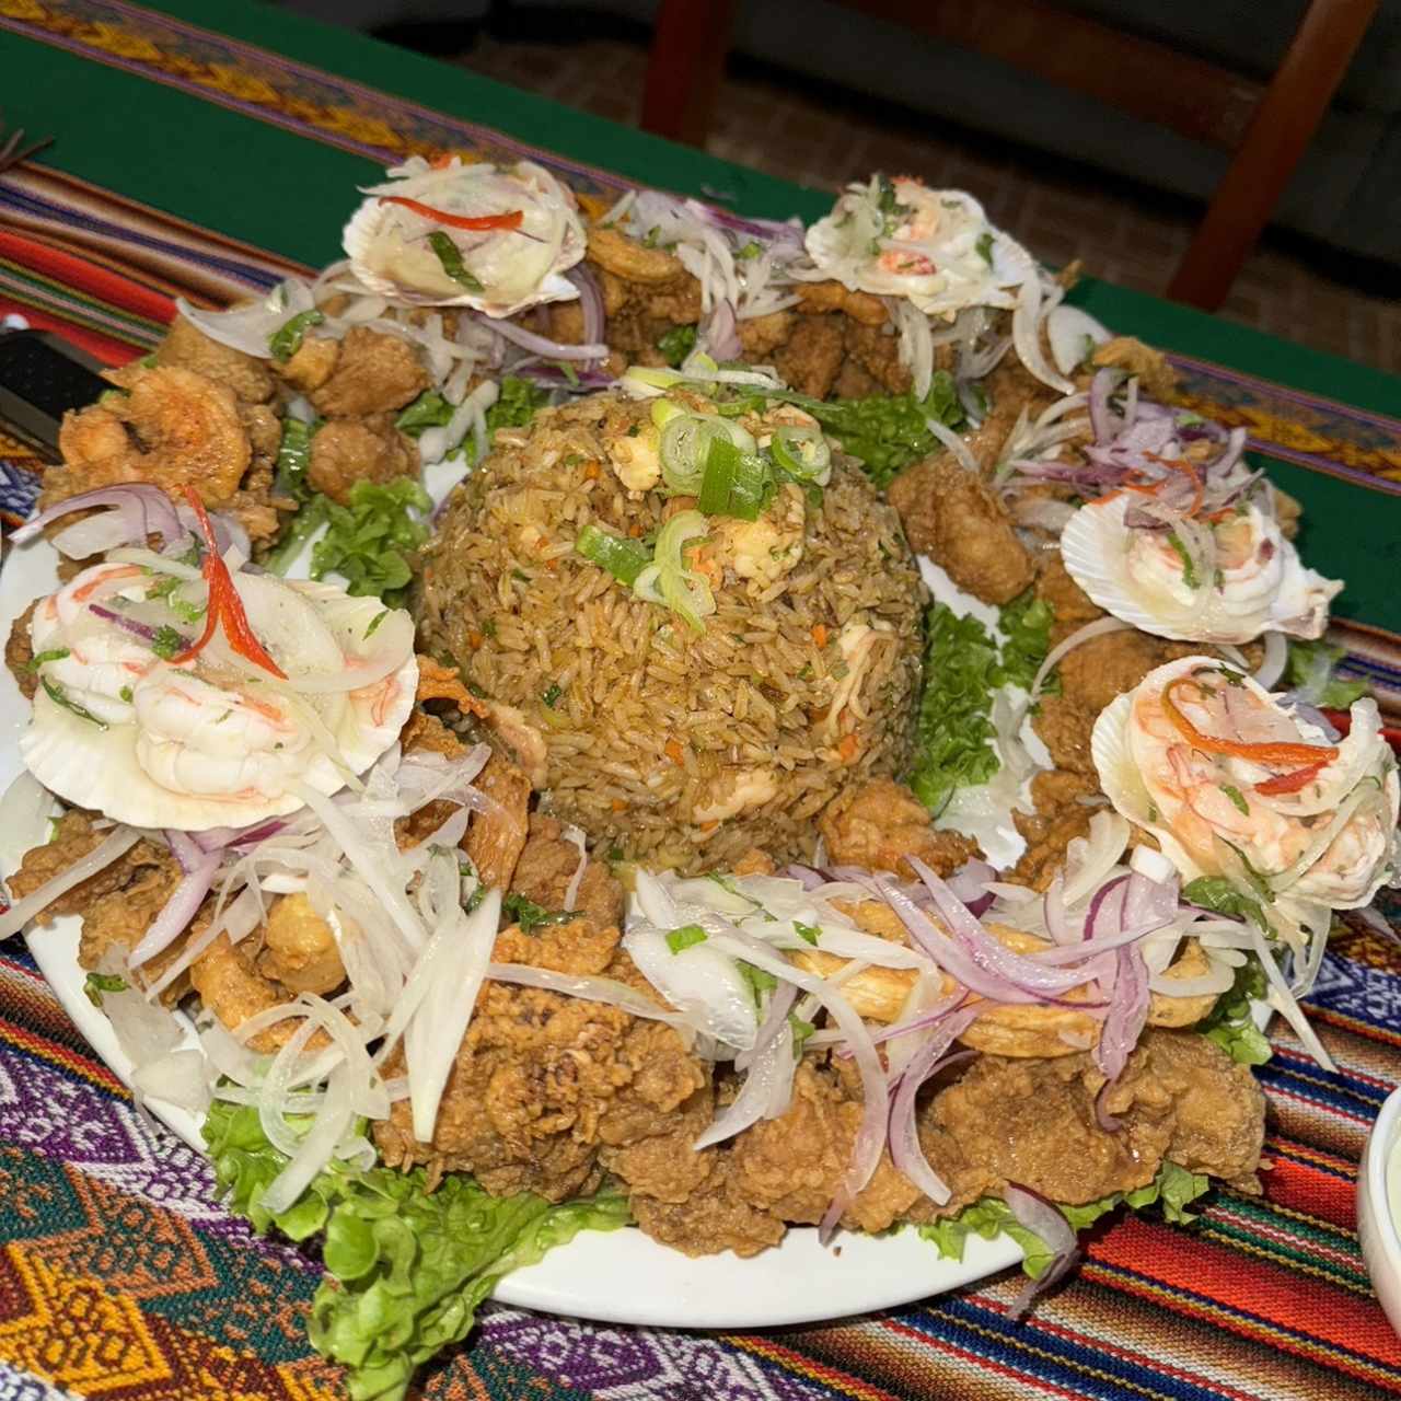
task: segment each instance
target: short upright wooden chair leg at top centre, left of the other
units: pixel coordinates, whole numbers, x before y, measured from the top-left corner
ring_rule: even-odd
[[[736,0],[661,0],[642,94],[642,129],[705,147],[730,50]]]

